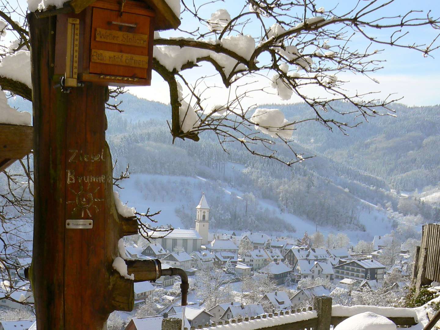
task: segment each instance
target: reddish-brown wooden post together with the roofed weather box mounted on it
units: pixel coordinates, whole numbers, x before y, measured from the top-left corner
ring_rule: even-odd
[[[37,326],[102,330],[110,312],[133,308],[133,280],[112,263],[118,240],[137,233],[136,218],[115,207],[107,85],[149,85],[154,29],[176,28],[179,19],[163,0],[72,0],[28,21]],[[142,280],[160,276],[160,263],[144,266]]]

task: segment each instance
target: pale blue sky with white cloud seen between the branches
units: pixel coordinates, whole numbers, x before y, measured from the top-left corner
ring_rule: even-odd
[[[317,7],[324,6],[326,9],[337,5],[338,9],[342,12],[352,7],[352,4],[356,3],[353,0],[344,0],[338,3],[337,1],[315,1]],[[215,9],[226,8],[233,17],[233,13],[241,10],[242,2],[226,0],[224,2],[216,3],[214,6],[206,8],[203,12],[205,17],[209,18],[209,10],[215,11]],[[396,1],[396,4],[392,4],[388,10],[383,11],[381,14],[384,16],[396,15],[396,12],[402,13],[408,10],[423,10],[425,13],[432,10],[435,13],[434,17],[440,16],[440,4],[437,1],[420,1],[417,5],[414,2],[407,0]],[[437,15],[437,16],[436,16]],[[190,18],[182,17],[182,27],[191,29]],[[437,33],[440,30],[437,30]],[[377,33],[377,32],[376,32]],[[167,32],[161,33],[161,36],[166,37],[179,37],[181,33],[179,32]],[[380,37],[380,35],[378,35]],[[413,31],[412,39],[420,40],[420,38],[425,37],[426,40],[429,37],[435,37],[435,34],[429,29],[417,29]],[[359,38],[351,47],[365,47],[367,42]],[[440,75],[440,51],[433,53],[432,57],[424,58],[422,53],[417,51],[411,51],[396,47],[381,47],[373,46],[375,48],[385,48],[381,52],[378,58],[385,59],[384,69],[378,71],[371,75],[380,83],[377,84],[366,77],[360,75],[345,75],[344,80],[349,81],[345,87],[350,91],[374,91],[378,92],[376,96],[379,98],[385,98],[390,93],[393,94],[395,99],[401,99],[399,102],[407,104],[409,106],[418,105],[435,105],[440,103],[440,92],[438,88],[438,77]],[[194,70],[194,73],[190,75],[193,77],[193,81],[197,77],[206,75],[207,69],[204,67],[200,70]],[[208,72],[211,72],[208,70]],[[215,77],[207,79],[210,85],[221,86],[221,81]],[[270,84],[268,79],[258,79],[253,81],[253,87],[266,87]],[[152,83],[149,87],[136,87],[129,88],[130,92],[149,100],[159,101],[162,103],[169,103],[169,89],[168,84],[161,79],[161,77],[153,72]],[[292,99],[288,101],[282,101],[277,95],[274,94],[275,89],[268,88],[266,93],[257,93],[253,95],[252,99],[249,99],[247,106],[251,104],[267,104],[267,103],[293,103],[301,101],[299,98],[295,98],[293,95]],[[212,88],[205,93],[208,97],[208,102],[214,104],[222,104],[222,101],[234,93],[234,90],[226,90],[225,88]]]

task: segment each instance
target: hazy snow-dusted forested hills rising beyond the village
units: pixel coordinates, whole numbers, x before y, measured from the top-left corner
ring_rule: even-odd
[[[225,145],[229,150],[227,154],[212,132],[202,133],[197,143],[177,139],[172,144],[166,122],[171,120],[169,105],[138,99],[128,93],[118,97],[119,101],[122,101],[123,113],[107,111],[107,141],[113,159],[118,159],[117,172],[129,163],[132,173],[198,175],[212,182],[221,180],[240,191],[252,192],[254,197],[272,200],[281,210],[307,217],[320,225],[363,230],[358,218],[364,206],[360,206],[358,198],[374,205],[391,203],[389,205],[397,209],[398,199],[390,189],[413,191],[440,181],[437,152],[440,106],[409,108],[396,104],[397,118],[369,117],[368,123],[348,128],[349,136],[337,128],[330,132],[315,121],[301,123],[293,133],[291,146],[297,153],[317,157],[287,168],[249,154],[238,143]],[[19,98],[9,102],[22,110],[31,109],[29,102]],[[313,111],[303,103],[261,107],[279,108],[289,121],[314,117]],[[341,112],[349,110],[347,103],[334,103],[334,107]],[[365,121],[353,115],[341,117],[330,112],[325,115],[340,116],[339,121],[353,125]],[[291,158],[287,148],[280,148],[279,153]],[[216,194],[216,189],[218,185],[212,187],[209,194]],[[249,208],[252,196],[248,197],[247,213],[252,213]],[[218,200],[210,199],[213,219],[222,219],[221,223],[217,220],[213,224],[215,227],[227,228],[238,221],[240,227],[248,229],[247,226],[259,223],[260,215],[257,219],[231,211],[237,210],[234,205],[237,201],[225,198],[223,194]],[[238,209],[242,209],[241,204]],[[179,214],[184,224],[186,217],[192,223],[191,207],[183,207]],[[276,214],[264,216],[280,224],[283,222]],[[283,226],[291,229],[289,224]]]

